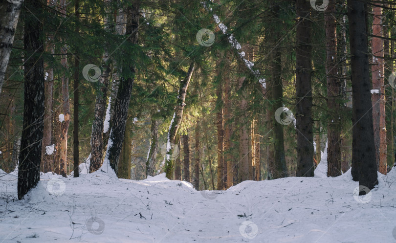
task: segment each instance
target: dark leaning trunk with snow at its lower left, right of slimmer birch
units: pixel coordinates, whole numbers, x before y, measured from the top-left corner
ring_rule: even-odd
[[[127,8],[127,40],[131,44],[137,44],[139,28],[139,2],[134,1]],[[135,75],[135,67],[131,65],[130,75],[121,77],[120,85],[117,92],[117,98],[114,103],[112,127],[110,131],[109,144],[106,152],[106,159],[109,160],[110,167],[118,175],[118,162],[120,158],[122,142],[125,135],[125,126],[128,117],[129,102]],[[111,143],[110,143],[111,141]]]

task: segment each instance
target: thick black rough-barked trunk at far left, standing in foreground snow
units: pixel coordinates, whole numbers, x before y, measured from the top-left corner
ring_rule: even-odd
[[[25,6],[32,14],[26,12],[23,36],[24,56],[29,58],[24,64],[25,82],[21,152],[18,167],[18,199],[23,199],[23,196],[40,180],[44,129],[43,25],[35,16],[42,14],[43,6],[36,0],[26,0]]]

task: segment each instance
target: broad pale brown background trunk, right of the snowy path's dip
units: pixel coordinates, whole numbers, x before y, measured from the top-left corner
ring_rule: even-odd
[[[242,88],[242,84],[245,81],[245,77],[239,78],[239,88]],[[245,98],[245,91],[242,91],[242,97],[239,98],[239,110],[242,112],[242,116],[239,119],[241,125],[239,133],[239,170],[238,170],[238,183],[249,179],[249,135],[247,134],[247,116],[245,115],[247,109],[247,100]]]

